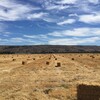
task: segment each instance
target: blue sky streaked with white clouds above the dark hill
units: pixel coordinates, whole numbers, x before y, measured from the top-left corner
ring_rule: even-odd
[[[0,45],[100,46],[100,0],[0,0]]]

